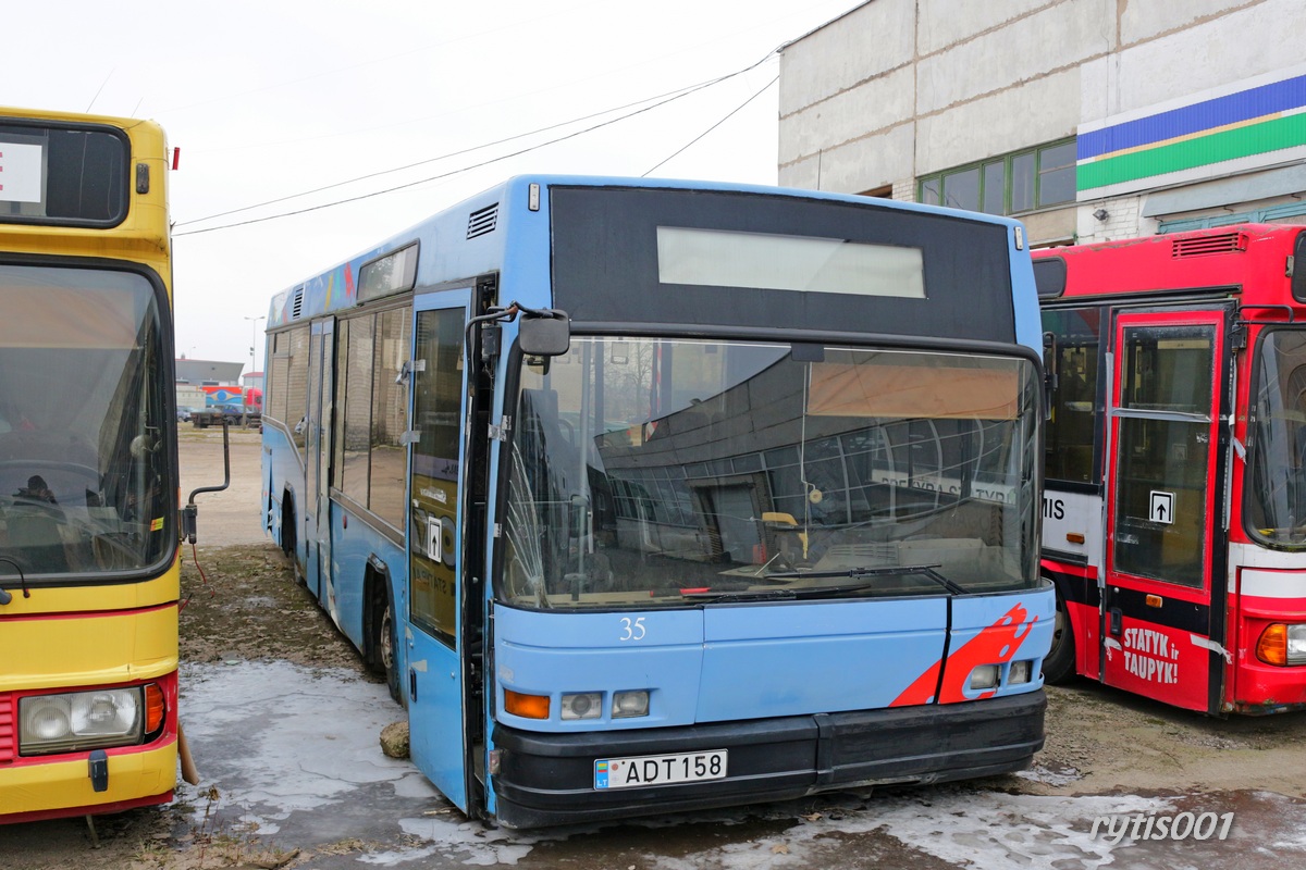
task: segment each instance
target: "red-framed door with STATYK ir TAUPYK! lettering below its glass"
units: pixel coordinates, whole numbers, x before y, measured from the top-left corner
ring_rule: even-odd
[[[1218,712],[1225,313],[1119,313],[1113,330],[1102,681]]]

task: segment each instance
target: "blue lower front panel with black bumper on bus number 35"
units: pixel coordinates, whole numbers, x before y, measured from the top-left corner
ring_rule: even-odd
[[[539,827],[1021,770],[1043,742],[1051,617],[1050,587],[644,613],[496,608],[490,810]],[[1029,676],[1012,685],[1015,661]],[[978,664],[996,667],[995,687],[968,687]],[[507,713],[505,689],[549,694],[550,719]],[[648,716],[613,717],[614,693],[628,690],[648,690]],[[599,694],[601,717],[563,720],[572,693]],[[687,770],[720,759],[725,775],[645,785],[618,780],[639,780],[640,766],[606,770],[670,757]]]

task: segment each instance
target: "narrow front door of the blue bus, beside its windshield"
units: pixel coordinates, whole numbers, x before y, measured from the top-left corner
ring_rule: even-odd
[[[413,429],[409,463],[409,743],[413,760],[468,811],[461,633],[464,329],[470,292],[418,297],[413,342]],[[431,305],[452,308],[432,308]]]

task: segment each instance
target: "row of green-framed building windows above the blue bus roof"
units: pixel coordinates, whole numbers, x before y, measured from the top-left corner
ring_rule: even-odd
[[[925,176],[917,201],[1003,215],[1074,202],[1075,140]]]

